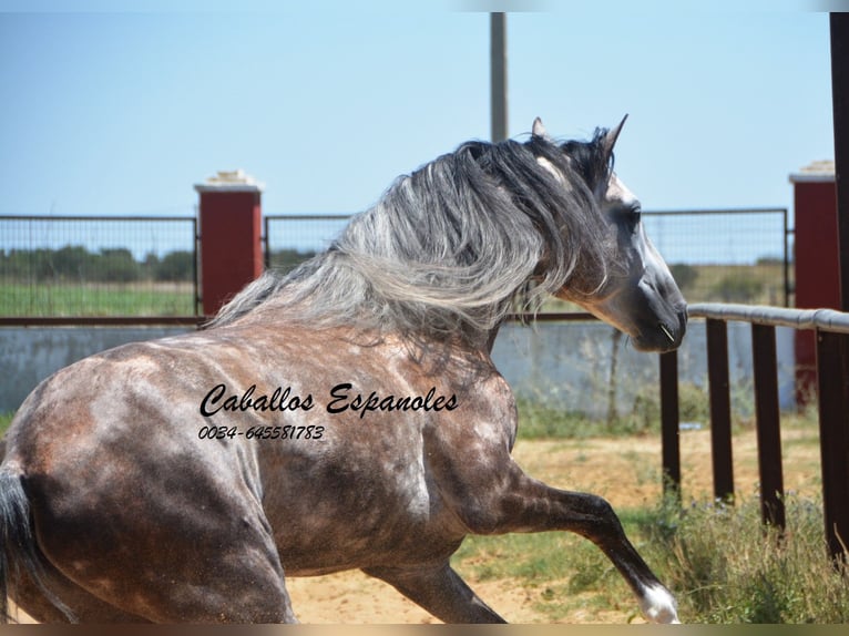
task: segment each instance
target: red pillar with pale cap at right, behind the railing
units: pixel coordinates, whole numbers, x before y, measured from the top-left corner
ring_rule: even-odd
[[[835,162],[821,161],[790,175],[794,184],[796,307],[840,309]],[[796,398],[805,404],[817,387],[812,331],[796,331]]]

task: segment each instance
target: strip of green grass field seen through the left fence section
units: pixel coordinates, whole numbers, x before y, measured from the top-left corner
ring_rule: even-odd
[[[190,284],[0,285],[0,316],[192,316]]]

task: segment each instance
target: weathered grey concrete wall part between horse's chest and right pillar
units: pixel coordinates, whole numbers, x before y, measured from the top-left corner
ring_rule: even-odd
[[[600,418],[608,411],[613,381],[615,408],[624,414],[641,397],[659,396],[659,362],[656,353],[635,351],[627,338],[615,334],[602,322],[507,325],[495,340],[493,359],[516,394]],[[795,407],[794,330],[778,328],[776,346],[779,400],[782,409],[790,409]],[[733,400],[750,409],[754,394],[748,324],[728,324],[728,366]],[[688,327],[678,350],[678,377],[682,383],[707,391],[704,321],[693,321]]]

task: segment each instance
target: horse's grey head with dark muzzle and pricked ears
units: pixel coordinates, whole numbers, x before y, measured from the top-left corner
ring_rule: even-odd
[[[570,286],[556,296],[579,304],[627,334],[634,348],[668,351],[677,348],[687,326],[686,301],[669,268],[646,236],[640,201],[612,170],[613,146],[622,125],[600,131],[591,142],[567,142],[561,147],[573,170],[584,178],[606,222],[606,242],[614,246],[615,267],[592,291]],[[544,136],[540,120],[533,134]]]

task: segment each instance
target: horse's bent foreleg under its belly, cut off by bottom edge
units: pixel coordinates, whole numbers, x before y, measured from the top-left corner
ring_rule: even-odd
[[[386,581],[444,623],[504,623],[460,578],[448,562],[436,567],[375,567],[366,574]]]

